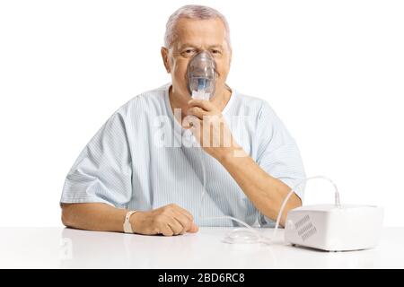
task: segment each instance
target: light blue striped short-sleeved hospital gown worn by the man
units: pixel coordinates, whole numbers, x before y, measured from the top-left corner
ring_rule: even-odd
[[[192,146],[189,131],[173,116],[170,86],[134,97],[101,126],[68,172],[60,203],[105,203],[130,210],[175,203],[192,213],[200,226],[236,226],[231,220],[197,216],[202,156],[206,166],[202,217],[230,215],[249,224],[273,226],[219,161]],[[223,115],[235,141],[269,175],[282,177],[289,187],[305,178],[294,138],[265,100],[233,90]],[[295,192],[303,199],[303,188]]]

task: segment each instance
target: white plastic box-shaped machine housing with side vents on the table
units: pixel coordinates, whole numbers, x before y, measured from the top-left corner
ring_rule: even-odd
[[[374,248],[382,229],[380,206],[307,205],[287,214],[285,241],[327,251]]]

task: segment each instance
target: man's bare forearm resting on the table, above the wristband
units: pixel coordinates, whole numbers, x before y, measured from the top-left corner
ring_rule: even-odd
[[[126,213],[108,204],[62,204],[62,222],[82,230],[123,232]]]

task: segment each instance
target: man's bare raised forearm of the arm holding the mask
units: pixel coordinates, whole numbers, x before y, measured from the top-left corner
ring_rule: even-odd
[[[265,170],[253,161],[248,154],[242,150],[227,152],[217,160],[237,182],[246,196],[257,209],[272,220],[277,220],[281,204],[290,192],[290,187],[281,180],[273,178]],[[243,153],[243,154],[242,154]],[[286,214],[290,209],[302,205],[299,196],[292,195],[285,205],[281,217],[281,225],[285,226]]]

